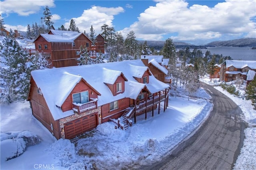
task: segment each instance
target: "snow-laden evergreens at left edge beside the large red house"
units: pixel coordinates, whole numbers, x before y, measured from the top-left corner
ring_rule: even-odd
[[[1,95],[3,102],[25,101],[29,91],[30,72],[44,69],[48,61],[40,55],[30,56],[20,47],[14,36],[7,36],[1,46],[1,55],[6,67],[1,68],[1,84],[5,85],[6,93]]]

